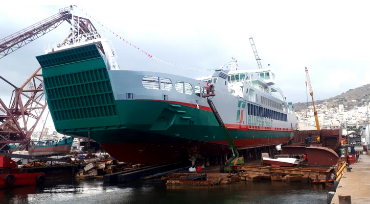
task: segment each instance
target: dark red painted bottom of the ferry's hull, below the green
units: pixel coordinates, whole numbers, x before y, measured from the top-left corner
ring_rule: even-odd
[[[282,144],[289,141],[288,138],[281,138],[281,142],[271,143],[271,139],[247,139],[248,146],[238,149],[255,148],[261,146],[271,146]],[[222,142],[223,141],[215,141]],[[226,142],[227,143],[227,142]],[[106,152],[113,158],[127,163],[141,164],[166,164],[183,162],[190,159],[189,154],[198,152],[201,157],[221,156],[232,154],[232,150],[226,144],[211,142],[191,141],[189,142],[120,142],[120,143],[100,143]]]

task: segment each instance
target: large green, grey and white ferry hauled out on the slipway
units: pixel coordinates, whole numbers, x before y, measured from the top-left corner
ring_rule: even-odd
[[[72,30],[72,29],[71,29]],[[56,130],[98,142],[123,162],[159,164],[230,154],[212,98],[238,149],[288,142],[297,120],[274,86],[275,72],[233,68],[191,79],[152,71],[120,70],[103,32],[70,35],[37,56]]]

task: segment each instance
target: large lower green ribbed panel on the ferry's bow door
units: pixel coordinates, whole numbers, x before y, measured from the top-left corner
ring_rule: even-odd
[[[57,121],[118,115],[105,68],[57,75],[44,83]]]

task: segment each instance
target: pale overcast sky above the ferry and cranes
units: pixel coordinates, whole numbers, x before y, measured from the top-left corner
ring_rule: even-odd
[[[257,69],[249,43],[252,36],[263,67],[276,71],[276,86],[293,103],[306,101],[309,69],[315,99],[336,96],[370,83],[370,14],[366,1],[127,1],[124,4],[77,5],[97,30],[110,29],[129,43],[166,62],[213,69],[235,57],[239,69]],[[62,6],[0,7],[0,38],[58,13]],[[82,12],[80,9],[84,12]],[[45,43],[63,39],[64,22],[14,53],[0,59],[0,75],[20,86],[39,66],[35,56]],[[202,77],[209,71],[173,67],[149,59],[113,34],[121,69],[150,70]],[[0,82],[0,97],[9,103],[13,88]]]

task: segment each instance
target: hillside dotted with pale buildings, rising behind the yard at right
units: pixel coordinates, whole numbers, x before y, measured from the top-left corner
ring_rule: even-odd
[[[355,89],[350,89],[346,92],[341,93],[335,97],[323,100],[315,100],[315,106],[320,104],[326,104],[328,108],[338,108],[338,105],[343,104],[344,110],[351,110],[354,106],[363,106],[366,104],[367,94],[368,100],[370,101],[370,84],[366,84]],[[313,95],[315,98],[315,93]],[[311,96],[308,96],[308,106],[312,106]],[[307,103],[296,103],[293,104],[295,112],[305,110]]]

